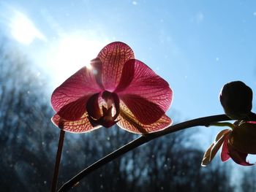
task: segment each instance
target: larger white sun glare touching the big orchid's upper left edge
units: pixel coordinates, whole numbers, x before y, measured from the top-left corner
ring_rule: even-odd
[[[106,42],[86,39],[82,35],[65,35],[57,45],[53,45],[49,55],[50,69],[54,71],[57,82],[62,82],[83,66],[91,69],[90,61],[97,57]]]

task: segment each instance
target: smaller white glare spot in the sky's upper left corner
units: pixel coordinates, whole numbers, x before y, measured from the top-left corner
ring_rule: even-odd
[[[45,40],[44,35],[34,26],[34,23],[21,12],[14,12],[9,25],[12,37],[22,44],[29,45],[36,38]]]

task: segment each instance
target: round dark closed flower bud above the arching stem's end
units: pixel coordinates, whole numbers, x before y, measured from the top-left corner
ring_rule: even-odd
[[[252,110],[252,89],[241,81],[228,82],[223,86],[219,100],[227,116],[243,120]]]

